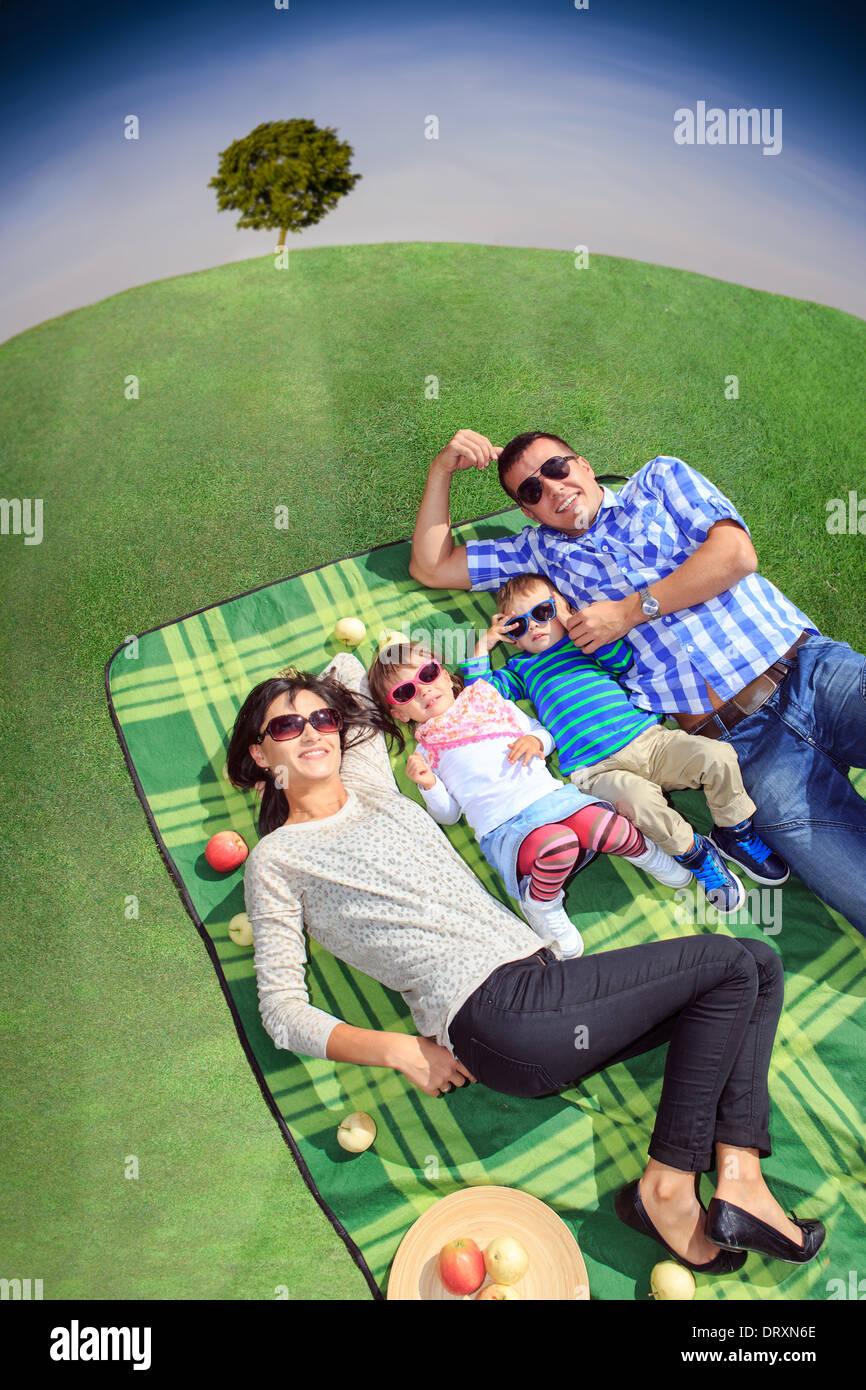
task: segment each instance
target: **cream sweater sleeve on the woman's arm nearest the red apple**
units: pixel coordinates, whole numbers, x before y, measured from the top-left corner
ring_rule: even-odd
[[[253,927],[259,1012],[275,1047],[327,1058],[328,1038],[341,1020],[310,1004],[302,902],[291,890],[285,867],[267,851],[259,853],[267,838],[247,859],[243,877]]]

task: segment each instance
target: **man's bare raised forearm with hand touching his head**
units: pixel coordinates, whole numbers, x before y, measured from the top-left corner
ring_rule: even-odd
[[[474,430],[459,430],[431,463],[409,562],[409,573],[418,584],[431,589],[471,588],[466,546],[455,545],[450,534],[450,480],[463,468],[487,468],[500,453]]]

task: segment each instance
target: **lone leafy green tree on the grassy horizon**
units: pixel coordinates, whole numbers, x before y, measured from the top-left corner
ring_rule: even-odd
[[[286,232],[321,222],[354,188],[361,175],[349,172],[353,154],[331,126],[320,131],[303,118],[265,121],[222,150],[209,188],[217,189],[221,213],[242,214],[238,227],[279,228],[279,249]]]

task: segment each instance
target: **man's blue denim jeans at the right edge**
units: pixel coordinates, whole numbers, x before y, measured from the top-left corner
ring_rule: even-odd
[[[766,705],[726,734],[755,827],[806,887],[866,935],[866,657],[810,637]]]

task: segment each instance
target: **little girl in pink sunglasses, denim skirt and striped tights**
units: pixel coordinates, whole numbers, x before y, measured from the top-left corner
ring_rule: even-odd
[[[609,802],[557,783],[544,762],[552,735],[487,681],[463,688],[420,644],[384,648],[368,680],[386,717],[416,726],[406,771],[431,816],[443,826],[466,816],[530,926],[564,959],[584,942],[563,910],[563,884],[596,853],[621,855],[670,887],[689,881]]]

